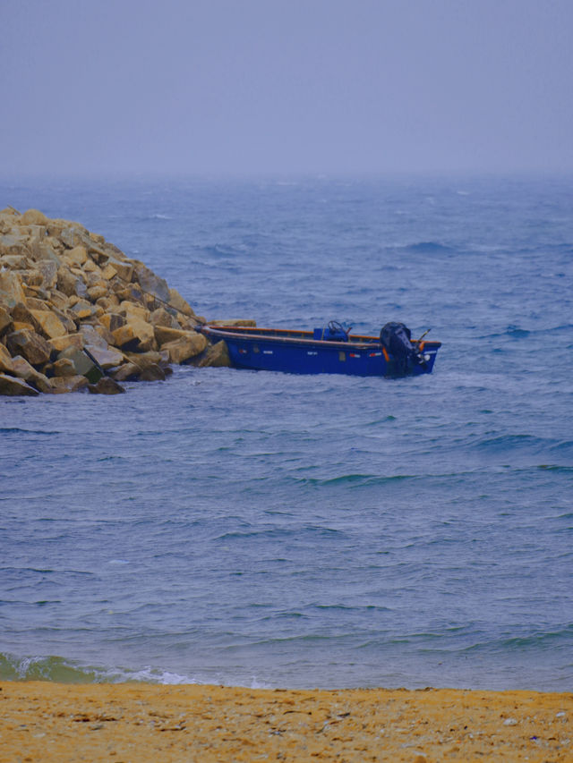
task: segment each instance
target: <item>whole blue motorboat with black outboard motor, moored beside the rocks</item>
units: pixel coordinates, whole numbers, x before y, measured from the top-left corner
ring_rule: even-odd
[[[251,326],[201,326],[211,342],[224,340],[238,369],[292,374],[402,377],[432,373],[440,342],[411,338],[402,323],[387,323],[380,336],[350,334],[337,321],[314,331]]]

